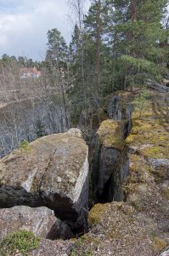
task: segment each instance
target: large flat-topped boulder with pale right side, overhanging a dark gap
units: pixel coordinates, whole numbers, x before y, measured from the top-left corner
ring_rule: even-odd
[[[42,137],[0,160],[0,207],[48,207],[71,224],[86,227],[88,148],[81,131]]]

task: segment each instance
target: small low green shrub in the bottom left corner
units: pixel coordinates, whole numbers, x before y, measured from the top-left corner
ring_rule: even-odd
[[[27,253],[33,249],[37,249],[40,239],[33,232],[27,230],[19,230],[8,234],[0,243],[0,255],[8,256],[12,253]]]

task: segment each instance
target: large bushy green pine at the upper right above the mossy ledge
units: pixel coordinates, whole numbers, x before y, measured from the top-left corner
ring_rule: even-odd
[[[167,0],[109,1],[110,37],[117,82],[143,84],[144,79],[161,80],[166,72],[166,49],[161,43],[167,33],[161,24]]]

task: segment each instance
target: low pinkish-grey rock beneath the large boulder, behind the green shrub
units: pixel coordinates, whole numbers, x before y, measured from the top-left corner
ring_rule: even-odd
[[[12,207],[0,209],[0,241],[8,233],[30,230],[41,238],[70,238],[73,234],[68,225],[54,217],[47,207]]]

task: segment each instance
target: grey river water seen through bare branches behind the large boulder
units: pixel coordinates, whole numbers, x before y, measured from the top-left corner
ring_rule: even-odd
[[[35,140],[38,131],[48,135],[66,130],[63,109],[56,101],[56,96],[50,96],[33,102],[18,100],[0,108],[0,158],[17,148],[20,141]]]

